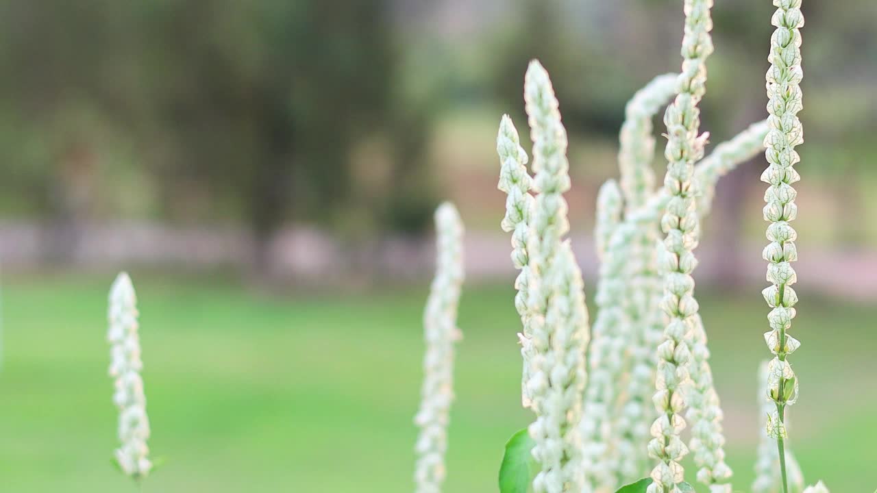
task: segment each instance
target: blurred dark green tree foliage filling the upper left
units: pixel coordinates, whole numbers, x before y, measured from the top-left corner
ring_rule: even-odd
[[[160,183],[156,214],[246,221],[260,267],[289,219],[343,228],[356,208],[376,228],[420,231],[428,215],[388,213],[410,199],[400,190],[428,191],[418,171],[428,119],[399,97],[389,4],[12,0],[0,7],[0,63],[16,74],[2,82],[4,126],[24,124],[30,137],[85,108],[145,156]],[[42,171],[12,170],[2,182],[24,180],[34,211],[70,225],[89,211],[65,197],[99,170],[85,173],[82,156],[106,159],[107,142],[106,132],[64,128],[69,139],[51,135],[30,152]],[[382,158],[400,183],[361,204],[352,149],[377,136],[391,143]],[[20,161],[25,150],[11,146],[4,157]],[[431,194],[419,197],[430,209]]]

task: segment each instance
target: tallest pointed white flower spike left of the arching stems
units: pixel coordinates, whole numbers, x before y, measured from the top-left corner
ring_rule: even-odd
[[[530,427],[533,457],[542,470],[535,493],[581,493],[582,393],[586,381],[588,311],[581,270],[564,236],[569,230],[570,187],[567,131],[548,73],[531,61],[524,80],[524,101],[533,140],[535,197],[527,238],[531,269],[527,305],[531,311],[531,374],[527,390],[537,418]]]

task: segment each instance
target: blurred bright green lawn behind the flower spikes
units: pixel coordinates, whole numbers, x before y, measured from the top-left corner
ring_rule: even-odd
[[[139,292],[153,453],[143,490],[402,493],[411,490],[425,288],[368,295],[267,295],[221,277],[132,273]],[[0,490],[136,491],[111,466],[115,409],[94,275],[4,279]],[[801,398],[792,447],[808,480],[877,487],[877,308],[809,297],[796,320]],[[450,493],[496,491],[503,443],[530,418],[519,404],[512,289],[467,287]],[[593,311],[592,311],[593,313]],[[736,489],[756,441],[755,372],[767,351],[758,289],[702,293]]]

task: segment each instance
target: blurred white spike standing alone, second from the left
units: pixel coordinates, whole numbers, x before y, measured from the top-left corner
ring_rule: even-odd
[[[453,204],[439,205],[436,222],[436,275],[424,310],[424,385],[414,418],[417,493],[439,493],[445,480],[447,425],[453,401],[453,344],[460,339],[457,306],[463,282],[463,224]]]

